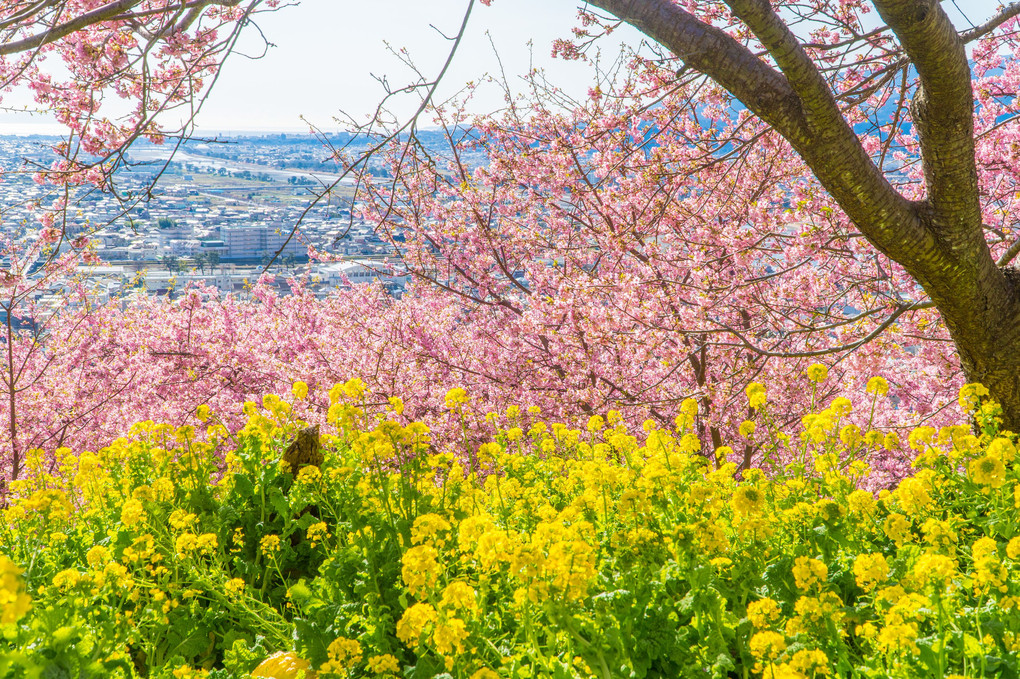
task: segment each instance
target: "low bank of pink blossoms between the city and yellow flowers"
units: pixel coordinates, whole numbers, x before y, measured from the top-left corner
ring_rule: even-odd
[[[26,334],[13,344],[17,430],[11,448],[97,450],[139,420],[197,424],[195,410],[201,405],[220,413],[233,432],[245,421],[236,404],[253,395],[282,393],[296,379],[309,386],[307,399],[295,405],[298,414],[325,425],[329,386],[353,375],[363,376],[371,403],[399,396],[406,415],[427,424],[441,445],[462,436],[461,422],[444,406],[445,394],[454,386],[471,394],[466,409],[472,436],[487,435],[479,427],[487,412],[514,404],[538,406],[545,417],[572,427],[583,427],[592,414],[608,410],[618,411],[631,426],[652,417],[661,427],[671,424],[682,401],[676,396],[670,400],[675,403],[656,406],[615,393],[595,399],[585,412],[563,398],[548,367],[513,360],[512,354],[476,351],[484,340],[463,309],[440,308],[441,300],[425,290],[398,301],[380,286],[358,285],[319,300],[301,281],[292,283],[290,295],[279,294],[272,276],[264,276],[247,299],[196,288],[172,300],[139,295],[56,314],[43,342]],[[880,372],[872,368],[885,364],[876,366],[869,356],[874,358],[858,353],[839,363],[838,371],[855,365],[859,374]],[[856,375],[844,379],[833,369],[831,378],[804,389],[810,361],[785,362],[781,383],[770,387],[772,417],[787,433],[800,431],[801,414],[813,407],[812,398],[849,398],[866,381]],[[938,374],[927,373],[924,379]],[[939,427],[959,417],[955,405],[926,415],[914,411],[907,395],[916,381],[890,379],[887,386],[888,398],[854,416],[858,426],[871,424],[906,437],[918,422]],[[694,426],[706,446],[721,446],[725,434],[740,463],[764,460],[765,439],[740,434],[742,422],[753,415],[743,391],[716,400],[711,411],[698,393],[694,397],[699,401]],[[0,443],[12,440],[10,415],[0,409]],[[723,422],[729,424],[722,427]],[[909,469],[895,447],[875,452],[871,463],[882,482]]]

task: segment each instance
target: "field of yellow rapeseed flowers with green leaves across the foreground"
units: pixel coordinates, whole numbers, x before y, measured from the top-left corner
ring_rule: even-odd
[[[202,430],[143,422],[13,484],[0,676],[246,676],[275,651],[297,656],[274,676],[1017,676],[1020,474],[983,393],[960,395],[977,428],[915,429],[877,494],[895,434],[840,399],[790,437],[757,383],[742,431],[769,475],[706,450],[694,401],[670,428],[511,408],[472,429],[453,389],[465,437],[437,449],[354,379],[297,469],[304,383],[236,436],[205,407]]]

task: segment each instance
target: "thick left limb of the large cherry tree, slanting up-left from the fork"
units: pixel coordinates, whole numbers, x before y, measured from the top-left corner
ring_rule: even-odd
[[[780,68],[776,72],[723,31],[669,0],[591,0],[634,25],[693,68],[724,87],[782,135],[861,231],[883,253],[911,268],[922,283],[950,264],[915,206],[888,182],[842,115],[832,93],[804,64],[803,47],[764,0],[732,0]],[[828,100],[828,103],[826,102]],[[933,269],[927,275],[924,269]]]

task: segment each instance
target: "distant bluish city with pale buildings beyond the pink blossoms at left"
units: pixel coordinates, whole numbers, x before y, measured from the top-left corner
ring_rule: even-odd
[[[350,138],[334,141],[350,143],[355,152],[367,145]],[[0,165],[6,170],[0,229],[15,240],[40,228],[37,205],[45,206],[54,194],[33,177],[40,165],[52,162],[49,147],[58,142],[0,137]],[[315,194],[339,178],[319,140],[263,135],[190,140],[175,151],[174,146],[136,144],[117,174],[117,195],[84,192],[71,202],[66,229],[71,236],[89,233],[103,260],[92,270],[103,301],[140,290],[173,296],[198,281],[221,293],[242,293],[270,260],[269,272],[279,274],[283,291],[289,290],[283,278],[302,274],[319,296],[375,279],[395,296],[403,292],[408,276],[397,253],[352,217],[349,180],[309,210],[291,236]],[[309,244],[340,261],[309,262]]]

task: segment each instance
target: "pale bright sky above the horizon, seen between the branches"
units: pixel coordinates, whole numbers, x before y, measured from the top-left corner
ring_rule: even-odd
[[[438,72],[450,43],[437,29],[454,35],[467,4],[467,0],[301,0],[263,14],[258,31],[249,29],[242,53],[232,55],[223,67],[199,115],[199,130],[308,132],[309,123],[326,130],[345,128],[340,111],[363,118],[385,95],[373,75],[385,75],[397,87],[412,80],[387,45],[406,48],[423,72]],[[979,23],[998,4],[997,0],[944,2],[961,27],[967,22],[960,8]],[[582,96],[593,84],[591,67],[550,57],[553,41],[569,38],[576,25],[576,0],[495,0],[490,7],[475,3],[440,98],[456,93],[468,81],[499,73],[501,62],[512,85],[519,86],[533,64],[545,68],[549,80],[568,94]],[[260,59],[246,58],[244,52],[262,52],[260,34],[274,46]],[[635,30],[624,27],[603,40],[601,49],[612,60],[621,43],[635,46],[640,40]],[[16,106],[26,101],[15,93],[4,103]],[[406,115],[415,104],[405,100],[398,113]],[[501,104],[500,91],[483,86],[471,106],[488,112]],[[0,135],[29,132],[59,128],[39,117],[0,113]]]

